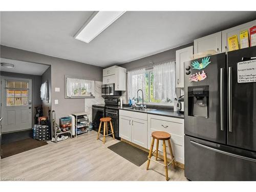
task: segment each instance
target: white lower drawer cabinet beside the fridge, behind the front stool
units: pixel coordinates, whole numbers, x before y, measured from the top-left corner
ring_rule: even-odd
[[[170,142],[172,143],[172,150],[175,156],[175,161],[184,164],[184,119],[165,117],[160,115],[147,116],[148,125],[148,142],[147,147],[150,148],[152,141],[152,132],[164,131],[171,135]],[[156,141],[154,143],[156,147]],[[159,141],[159,151],[162,152],[163,145],[162,141]],[[169,156],[169,148],[166,143],[166,152]],[[170,156],[169,156],[170,157]]]

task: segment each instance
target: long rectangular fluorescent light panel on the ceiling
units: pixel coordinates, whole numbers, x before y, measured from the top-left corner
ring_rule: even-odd
[[[125,11],[98,11],[94,12],[82,28],[77,32],[75,38],[89,43],[98,34],[108,28]]]

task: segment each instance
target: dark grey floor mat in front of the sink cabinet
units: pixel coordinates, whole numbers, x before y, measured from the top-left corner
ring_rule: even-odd
[[[148,153],[122,141],[108,148],[137,166],[141,166],[147,160]]]

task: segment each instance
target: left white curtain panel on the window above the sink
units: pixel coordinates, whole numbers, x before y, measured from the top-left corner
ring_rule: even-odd
[[[145,98],[145,69],[129,71],[127,73],[127,98],[137,99],[137,91],[143,91]],[[139,93],[141,95],[141,92]],[[137,100],[135,100],[137,101]]]

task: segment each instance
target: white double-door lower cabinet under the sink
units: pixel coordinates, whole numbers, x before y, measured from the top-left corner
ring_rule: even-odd
[[[122,139],[147,148],[147,114],[119,110],[119,134]]]

